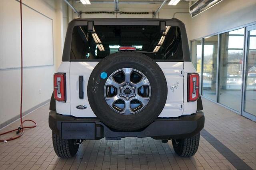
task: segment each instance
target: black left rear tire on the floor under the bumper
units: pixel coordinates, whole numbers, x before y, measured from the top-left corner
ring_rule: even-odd
[[[79,148],[79,144],[74,144],[73,139],[62,139],[54,132],[52,132],[52,144],[55,153],[60,158],[72,158]]]

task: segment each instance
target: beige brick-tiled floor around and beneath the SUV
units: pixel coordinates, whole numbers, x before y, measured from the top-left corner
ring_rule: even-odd
[[[256,123],[206,99],[202,100],[206,122],[198,152],[191,158],[178,157],[171,141],[163,144],[152,138],[134,137],[87,140],[80,145],[74,158],[58,158],[48,127],[49,105],[45,105],[24,118],[35,120],[38,127],[25,130],[21,138],[0,143],[0,170],[229,170],[236,169],[239,160],[245,168],[256,170]],[[17,121],[0,132],[18,125]]]

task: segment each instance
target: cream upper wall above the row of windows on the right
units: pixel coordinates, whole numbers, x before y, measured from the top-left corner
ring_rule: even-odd
[[[255,0],[223,0],[190,21],[189,40],[256,21]]]

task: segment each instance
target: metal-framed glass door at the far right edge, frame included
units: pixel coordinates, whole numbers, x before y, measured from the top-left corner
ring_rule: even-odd
[[[256,25],[246,28],[242,115],[256,121]]]

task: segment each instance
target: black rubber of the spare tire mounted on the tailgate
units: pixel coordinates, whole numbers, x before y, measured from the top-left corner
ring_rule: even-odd
[[[151,86],[148,104],[132,115],[118,114],[108,106],[104,97],[108,76],[123,68],[142,72]],[[102,72],[107,73],[106,79],[101,79]],[[100,121],[117,130],[132,131],[146,127],[161,113],[166,103],[167,83],[162,69],[150,57],[134,51],[120,51],[110,54],[96,65],[88,81],[87,95],[90,107]]]

